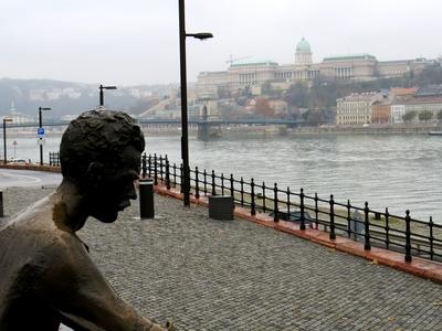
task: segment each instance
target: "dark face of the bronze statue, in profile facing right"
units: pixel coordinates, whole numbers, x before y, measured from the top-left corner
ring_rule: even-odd
[[[134,181],[139,175],[140,157],[140,152],[130,146],[124,150],[118,168],[105,164],[106,169],[90,195],[92,216],[104,223],[115,222],[118,212],[128,207],[130,200],[137,199]]]

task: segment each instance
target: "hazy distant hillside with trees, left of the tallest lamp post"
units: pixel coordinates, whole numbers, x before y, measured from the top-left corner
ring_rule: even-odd
[[[51,79],[0,79],[0,116],[9,114],[11,104],[21,114],[36,117],[36,109],[51,107],[45,117],[60,118],[94,109],[99,103],[98,86]],[[176,85],[129,86],[105,92],[105,104],[113,109],[139,114],[159,100]]]

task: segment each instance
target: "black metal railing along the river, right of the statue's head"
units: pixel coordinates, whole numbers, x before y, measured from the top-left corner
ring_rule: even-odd
[[[168,189],[180,188],[182,166],[170,163],[167,156],[143,156],[141,175],[154,179],[155,184],[162,182]],[[269,213],[274,222],[288,220],[299,223],[299,228],[319,228],[329,233],[329,238],[336,235],[346,236],[364,243],[366,250],[372,246],[401,252],[406,261],[412,256],[431,260],[442,260],[442,225],[414,220],[410,211],[403,216],[390,214],[364,206],[356,206],[348,200],[346,203],[305,194],[303,189],[295,192],[290,188],[281,189],[277,183],[266,185],[253,178],[245,181],[233,174],[217,174],[214,170],[201,170],[198,167],[190,170],[191,194],[231,195],[235,205],[250,210],[251,215]]]

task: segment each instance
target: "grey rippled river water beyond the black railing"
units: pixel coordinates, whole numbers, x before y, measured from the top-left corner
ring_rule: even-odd
[[[36,138],[17,141],[15,157],[39,160]],[[180,163],[180,137],[150,137],[149,153],[168,154]],[[46,138],[48,151],[57,151],[60,137]],[[274,182],[292,191],[304,188],[306,194],[318,193],[335,201],[442,223],[442,137],[425,135],[306,135],[286,137],[221,138],[211,141],[189,140],[190,163],[200,170],[233,173],[256,183]]]

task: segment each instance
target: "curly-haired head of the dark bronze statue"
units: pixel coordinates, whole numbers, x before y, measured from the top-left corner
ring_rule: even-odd
[[[90,214],[114,222],[136,199],[145,139],[139,126],[122,111],[91,110],[71,121],[60,146],[63,178],[88,202]]]

